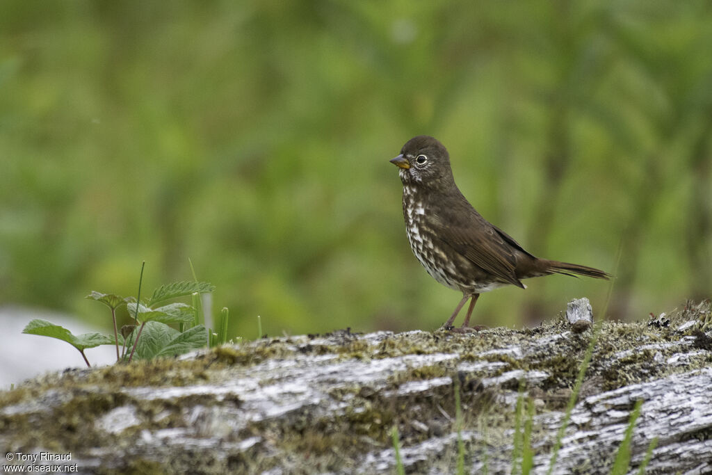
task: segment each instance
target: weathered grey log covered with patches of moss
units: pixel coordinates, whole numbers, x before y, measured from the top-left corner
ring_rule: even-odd
[[[609,473],[637,401],[629,473],[654,438],[646,473],[712,472],[709,322],[704,302],[603,323],[553,473]],[[516,471],[524,444],[545,473],[593,332],[563,317],[466,335],[342,330],[66,370],[0,393],[0,447],[70,454],[80,473],[391,473],[397,427],[409,472],[454,472],[461,437],[468,472]]]

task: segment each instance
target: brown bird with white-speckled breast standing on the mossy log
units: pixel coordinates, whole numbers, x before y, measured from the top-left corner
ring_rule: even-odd
[[[391,163],[399,167],[403,182],[403,216],[413,254],[432,278],[463,295],[445,328],[452,329],[469,298],[463,328],[481,293],[510,285],[525,288],[523,278],[552,273],[611,277],[597,268],[539,259],[484,219],[458,189],[450,155],[433,137],[413,137]]]

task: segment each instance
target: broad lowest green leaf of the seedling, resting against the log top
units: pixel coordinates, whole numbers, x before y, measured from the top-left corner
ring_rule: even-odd
[[[136,338],[135,330],[132,338]],[[129,338],[129,340],[132,340]],[[135,358],[150,360],[155,357],[173,357],[190,350],[204,348],[207,333],[202,325],[190,328],[184,333],[165,325],[164,323],[147,322],[136,345]]]

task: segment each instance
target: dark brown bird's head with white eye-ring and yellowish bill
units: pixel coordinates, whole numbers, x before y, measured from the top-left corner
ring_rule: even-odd
[[[433,187],[454,183],[450,155],[444,145],[429,135],[408,140],[391,163],[399,167],[403,184]]]

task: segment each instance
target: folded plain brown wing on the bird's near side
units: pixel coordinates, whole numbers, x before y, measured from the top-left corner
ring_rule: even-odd
[[[502,281],[524,288],[515,274],[515,250],[524,251],[517,242],[484,219],[464,199],[456,206],[441,209],[431,216],[431,225],[439,229],[445,244],[474,263],[483,271]]]

